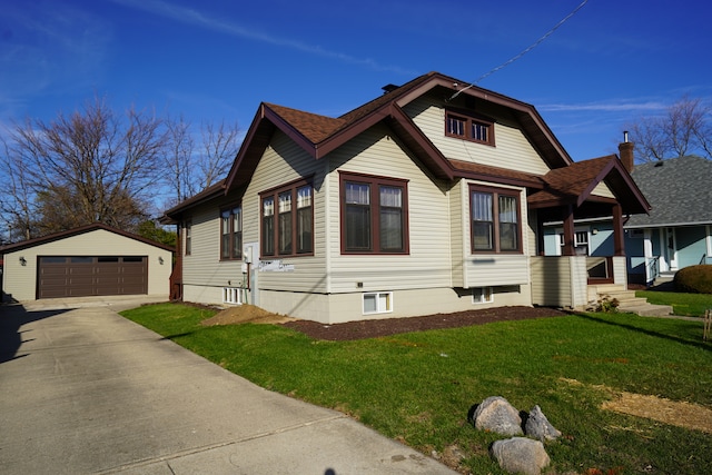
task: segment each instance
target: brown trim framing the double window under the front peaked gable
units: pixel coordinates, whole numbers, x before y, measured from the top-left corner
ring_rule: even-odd
[[[346,246],[346,184],[357,182],[370,186],[370,249],[347,249]],[[379,186],[388,186],[400,188],[403,190],[403,249],[402,250],[380,250],[380,204],[379,204]],[[375,175],[357,174],[350,171],[339,171],[339,228],[340,228],[340,247],[344,255],[408,255],[411,254],[409,237],[409,219],[408,219],[408,180],[402,178],[389,178]]]

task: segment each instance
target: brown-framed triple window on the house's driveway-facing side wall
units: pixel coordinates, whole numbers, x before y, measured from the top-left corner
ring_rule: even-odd
[[[314,189],[299,180],[260,194],[261,255],[314,254]]]

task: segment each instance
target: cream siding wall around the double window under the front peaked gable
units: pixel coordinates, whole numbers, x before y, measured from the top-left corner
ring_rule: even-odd
[[[328,159],[330,290],[451,287],[451,211],[444,186],[425,175],[383,126],[366,131]],[[338,170],[408,180],[409,255],[340,254]]]

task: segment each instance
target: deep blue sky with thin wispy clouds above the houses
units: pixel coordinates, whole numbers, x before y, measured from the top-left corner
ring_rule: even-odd
[[[0,126],[106,96],[237,121],[260,101],[342,115],[428,71],[465,82],[583,0],[0,0]],[[477,83],[536,107],[574,158],[617,151],[626,122],[712,100],[712,4],[589,0]]]

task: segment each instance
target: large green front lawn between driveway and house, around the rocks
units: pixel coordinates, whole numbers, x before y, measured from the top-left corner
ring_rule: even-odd
[[[467,423],[469,408],[495,395],[520,410],[538,404],[564,434],[546,444],[555,473],[712,466],[712,434],[600,409],[623,390],[712,408],[712,344],[699,321],[581,314],[335,343],[274,325],[202,327],[211,313],[182,305],[123,315],[263,387],[347,413],[426,454],[456,445],[475,474],[502,473],[487,455],[498,437]]]

